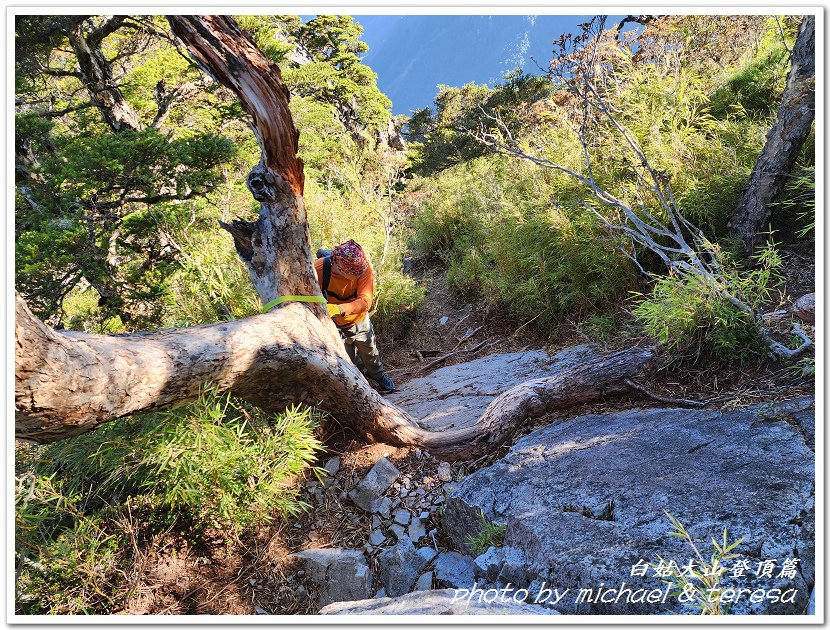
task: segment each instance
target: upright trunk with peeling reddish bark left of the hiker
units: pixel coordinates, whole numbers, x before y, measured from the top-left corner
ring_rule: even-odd
[[[305,204],[300,134],[279,68],[224,16],[171,16],[173,32],[208,74],[239,97],[262,149],[248,175],[260,202],[255,222],[222,224],[233,236],[254,287],[267,303],[280,295],[321,295],[314,273]],[[317,307],[321,316],[324,309]]]

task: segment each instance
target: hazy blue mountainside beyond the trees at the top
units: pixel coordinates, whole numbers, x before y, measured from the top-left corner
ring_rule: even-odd
[[[517,67],[541,72],[552,42],[590,16],[356,15],[369,52],[363,60],[395,114],[432,105],[439,84],[494,85]],[[611,20],[609,20],[611,22]],[[536,61],[531,59],[533,57]]]

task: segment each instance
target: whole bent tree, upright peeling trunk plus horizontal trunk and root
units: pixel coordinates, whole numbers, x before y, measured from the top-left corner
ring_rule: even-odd
[[[262,160],[248,177],[255,222],[225,227],[263,302],[320,295],[302,200],[298,133],[279,70],[227,17],[171,17],[200,64],[234,90],[251,115]],[[277,410],[316,405],[369,440],[420,446],[446,459],[476,457],[528,417],[629,391],[650,350],[609,355],[506,392],[468,428],[428,431],[367,383],[319,304],[286,302],[268,314],[134,335],[56,332],[16,297],[15,435],[51,442],[125,415],[187,401],[211,383]]]

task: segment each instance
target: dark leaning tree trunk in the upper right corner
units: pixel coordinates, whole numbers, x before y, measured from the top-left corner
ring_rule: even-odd
[[[792,67],[775,124],[729,220],[730,234],[752,251],[781,195],[815,119],[816,18],[805,16],[792,51]]]

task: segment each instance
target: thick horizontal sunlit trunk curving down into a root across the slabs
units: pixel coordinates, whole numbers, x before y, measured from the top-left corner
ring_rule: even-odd
[[[57,332],[16,297],[15,436],[45,443],[104,422],[192,400],[207,384],[266,410],[316,405],[366,439],[419,446],[445,459],[476,457],[527,418],[631,391],[649,367],[634,348],[499,396],[479,421],[429,431],[369,387],[305,305],[209,326],[134,335]]]

